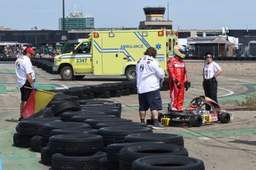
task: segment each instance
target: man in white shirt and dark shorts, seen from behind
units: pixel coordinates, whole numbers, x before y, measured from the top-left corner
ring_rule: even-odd
[[[144,57],[137,62],[137,92],[140,103],[140,120],[145,123],[146,111],[151,109],[151,117],[154,119],[153,129],[165,129],[158,121],[158,110],[162,110],[160,95],[160,80],[165,77],[165,72],[155,60],[157,50],[149,47]]]

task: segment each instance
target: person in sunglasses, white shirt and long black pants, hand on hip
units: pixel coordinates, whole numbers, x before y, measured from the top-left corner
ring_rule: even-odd
[[[203,89],[208,98],[217,102],[217,76],[220,75],[222,69],[219,64],[213,61],[214,55],[211,52],[206,52],[205,64],[203,67]],[[206,104],[206,110],[210,111],[211,106]]]

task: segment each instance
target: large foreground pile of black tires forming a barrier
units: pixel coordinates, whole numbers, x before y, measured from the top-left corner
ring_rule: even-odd
[[[174,166],[204,169],[203,161],[188,157],[182,136],[153,133],[144,123],[121,118],[121,103],[93,99],[65,101],[64,95],[61,98],[31,116],[33,118],[22,120],[13,135],[14,146],[41,152],[41,163],[46,166],[53,169],[171,169]]]

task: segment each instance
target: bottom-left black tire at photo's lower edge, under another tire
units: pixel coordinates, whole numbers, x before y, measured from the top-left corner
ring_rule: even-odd
[[[65,156],[63,154],[53,154],[51,166],[53,169],[99,169],[99,159],[106,157],[105,152],[97,152],[91,156]]]

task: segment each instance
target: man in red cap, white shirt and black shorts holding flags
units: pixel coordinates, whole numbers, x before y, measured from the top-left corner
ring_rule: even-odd
[[[19,121],[22,120],[22,110],[27,103],[27,98],[30,96],[30,92],[32,91],[29,88],[33,88],[36,90],[36,86],[34,86],[34,81],[36,80],[36,75],[33,69],[33,65],[30,61],[30,58],[36,53],[32,48],[27,47],[24,52],[26,55],[17,58],[16,64],[16,75],[19,89],[21,91],[22,99],[20,104],[20,118]]]

